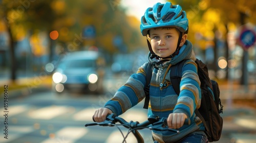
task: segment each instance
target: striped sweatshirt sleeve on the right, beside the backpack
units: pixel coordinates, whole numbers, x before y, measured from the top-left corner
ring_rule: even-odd
[[[194,114],[201,104],[200,80],[197,73],[197,64],[188,60],[182,67],[180,94],[174,112],[184,112],[188,117]]]

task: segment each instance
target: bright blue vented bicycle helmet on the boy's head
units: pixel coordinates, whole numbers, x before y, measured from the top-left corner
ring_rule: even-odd
[[[148,30],[159,27],[175,27],[180,32],[187,32],[188,20],[186,12],[181,6],[166,2],[157,3],[152,8],[147,8],[144,16],[141,17],[140,31],[146,36]]]

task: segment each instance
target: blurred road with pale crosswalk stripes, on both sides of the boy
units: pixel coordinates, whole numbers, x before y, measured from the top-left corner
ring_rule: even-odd
[[[103,107],[126,79],[126,75],[119,78],[110,77],[105,83],[106,92],[101,95],[76,93],[58,95],[46,90],[9,99],[7,117],[3,106],[0,107],[0,142],[122,142],[123,137],[115,127],[84,127],[84,125],[92,122],[95,109]],[[142,107],[143,102],[125,112],[122,117],[126,121],[143,122],[146,120],[147,110]],[[255,142],[255,115],[256,111],[250,108],[224,108],[222,136],[217,142]],[[8,122],[7,128],[6,125],[3,126],[6,122]],[[8,131],[5,131],[6,129]],[[126,129],[121,128],[121,130],[124,134],[127,133]],[[140,130],[140,133],[145,142],[152,142],[150,130]],[[126,141],[136,142],[132,134]]]

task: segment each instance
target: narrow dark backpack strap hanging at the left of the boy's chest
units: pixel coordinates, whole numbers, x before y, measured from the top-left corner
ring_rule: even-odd
[[[151,62],[147,62],[146,64],[146,84],[144,87],[144,92],[145,92],[145,102],[144,102],[144,109],[148,109],[148,104],[150,103],[150,82],[152,78],[152,72],[153,72],[153,64]]]

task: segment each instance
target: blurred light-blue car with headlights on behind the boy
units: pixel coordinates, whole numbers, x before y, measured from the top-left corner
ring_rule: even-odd
[[[64,56],[52,75],[53,90],[62,92],[103,92],[104,60],[95,51],[73,52]]]

